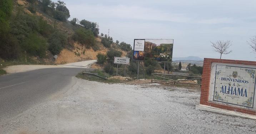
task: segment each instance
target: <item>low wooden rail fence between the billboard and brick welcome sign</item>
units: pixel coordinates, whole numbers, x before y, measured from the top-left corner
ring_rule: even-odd
[[[162,78],[162,79],[166,79],[166,80],[156,80],[156,79],[153,79],[153,76],[159,77],[159,78]],[[169,79],[169,78],[165,78],[165,77],[162,77],[162,76],[174,76],[174,80],[173,79]],[[180,80],[176,80],[176,76],[192,77],[193,79],[180,79]],[[201,84],[197,84],[197,83],[182,83],[182,81],[188,81],[188,80],[200,80],[200,82],[201,82],[202,77],[199,77],[199,76],[186,76],[186,75],[181,75],[181,74],[151,73],[151,83],[153,81],[157,81],[157,82],[170,82],[170,83],[174,83],[174,84],[180,83],[180,84],[190,84],[190,85],[200,85],[201,86]]]

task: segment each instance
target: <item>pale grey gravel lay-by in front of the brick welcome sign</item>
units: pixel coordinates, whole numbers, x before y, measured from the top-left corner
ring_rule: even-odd
[[[253,119],[195,110],[199,99],[196,89],[73,77],[47,101],[0,121],[0,133],[256,133]]]

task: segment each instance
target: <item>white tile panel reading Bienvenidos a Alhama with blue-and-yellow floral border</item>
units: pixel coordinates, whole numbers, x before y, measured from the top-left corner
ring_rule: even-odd
[[[216,65],[214,101],[254,107],[256,68]]]

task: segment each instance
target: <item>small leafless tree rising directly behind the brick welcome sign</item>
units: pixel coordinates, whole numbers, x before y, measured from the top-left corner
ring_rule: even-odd
[[[215,42],[211,42],[212,49],[216,52],[220,53],[220,59],[222,54],[230,54],[232,50],[229,50],[230,46],[232,46],[232,41],[230,40],[217,40]]]

